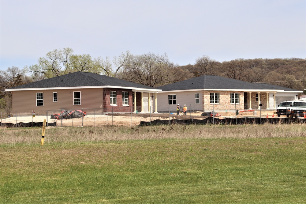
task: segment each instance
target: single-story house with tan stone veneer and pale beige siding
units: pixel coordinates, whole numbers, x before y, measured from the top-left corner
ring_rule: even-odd
[[[203,75],[158,87],[159,112],[176,110],[177,104],[192,110],[276,109],[286,100],[295,100],[302,91],[281,86],[249,83]],[[214,106],[214,107],[213,107]]]

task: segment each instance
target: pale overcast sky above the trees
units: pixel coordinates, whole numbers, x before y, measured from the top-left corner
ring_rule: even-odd
[[[1,0],[1,70],[34,65],[54,49],[92,58],[166,53],[306,58],[306,0]]]

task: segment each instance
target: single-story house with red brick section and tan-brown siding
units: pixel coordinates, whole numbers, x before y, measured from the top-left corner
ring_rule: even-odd
[[[12,112],[92,108],[105,112],[157,112],[160,89],[88,72],[74,72],[6,89]],[[153,103],[154,100],[154,103]],[[154,107],[153,107],[154,104]]]

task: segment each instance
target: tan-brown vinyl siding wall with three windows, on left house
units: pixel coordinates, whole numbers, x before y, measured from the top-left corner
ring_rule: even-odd
[[[81,105],[73,105],[73,92],[81,92]],[[53,102],[57,92],[58,102]],[[43,106],[36,106],[36,93],[43,93]],[[96,89],[52,89],[34,91],[12,91],[13,112],[43,112],[47,110],[103,108],[103,88]]]

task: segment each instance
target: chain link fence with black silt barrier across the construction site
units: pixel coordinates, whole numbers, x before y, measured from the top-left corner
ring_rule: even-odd
[[[185,104],[184,104],[185,105]],[[83,127],[83,126],[137,126],[151,124],[243,124],[243,123],[305,123],[306,112],[290,117],[279,115],[275,109],[243,109],[241,104],[229,106],[211,104],[209,109],[199,110],[198,105],[165,105],[157,110],[152,106],[130,107],[113,106],[111,108],[58,109],[47,111],[22,111],[9,115],[1,112],[1,127],[42,126],[46,119],[47,127]],[[242,109],[241,109],[242,108]],[[185,109],[185,108],[184,108]],[[157,112],[156,112],[157,111]],[[178,113],[179,112],[179,113]]]

